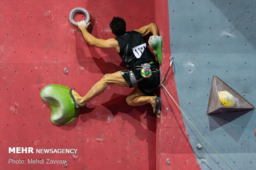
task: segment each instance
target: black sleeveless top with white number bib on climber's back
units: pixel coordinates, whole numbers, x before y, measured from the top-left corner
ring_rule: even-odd
[[[141,33],[133,30],[116,37],[115,40],[119,43],[119,56],[127,68],[133,68],[143,63],[150,63],[152,70],[159,68],[159,63],[147,47]]]

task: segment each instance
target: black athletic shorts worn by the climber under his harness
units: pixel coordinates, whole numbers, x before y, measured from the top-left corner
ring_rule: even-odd
[[[145,95],[150,95],[154,92],[156,88],[158,88],[160,84],[160,73],[156,71],[152,71],[152,75],[149,78],[143,78],[142,75],[140,75],[140,70],[133,70],[133,73],[135,75],[135,78],[137,80],[137,86],[140,89],[142,93]],[[123,75],[123,78],[125,81],[130,85],[129,88],[132,88],[132,84],[130,82],[130,70],[123,70],[121,71],[121,74]],[[143,79],[142,79],[143,78]],[[142,80],[140,80],[142,79]],[[140,81],[138,81],[140,80]]]

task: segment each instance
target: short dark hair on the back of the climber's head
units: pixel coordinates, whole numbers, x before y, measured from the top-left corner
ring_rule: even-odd
[[[126,33],[126,21],[120,17],[114,16],[109,26],[116,36],[124,35]]]

